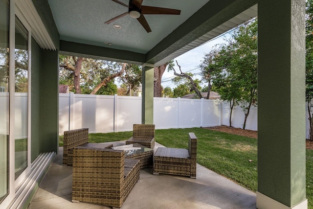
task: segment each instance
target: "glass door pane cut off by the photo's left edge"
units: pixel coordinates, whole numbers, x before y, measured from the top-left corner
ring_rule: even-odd
[[[0,202],[9,191],[9,3],[0,0]]]

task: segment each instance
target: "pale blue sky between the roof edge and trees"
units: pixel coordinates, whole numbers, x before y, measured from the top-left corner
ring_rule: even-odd
[[[220,36],[214,40],[211,40],[201,46],[198,46],[194,49],[191,49],[190,51],[187,51],[186,53],[178,56],[175,61],[175,70],[179,72],[179,67],[176,64],[176,61],[181,67],[182,72],[187,72],[190,71],[193,74],[197,74],[201,72],[201,69],[199,68],[199,65],[201,64],[201,61],[203,60],[204,54],[210,52],[211,48],[217,44],[224,43],[224,36],[227,36],[227,33],[224,34],[223,36]],[[162,75],[162,82],[161,85],[163,88],[165,87],[170,87],[172,90],[176,87],[171,79],[175,77],[174,71],[167,71],[165,70],[163,75]],[[193,79],[198,78],[201,80],[201,75],[195,75]],[[202,83],[202,87],[207,86],[207,83]]]

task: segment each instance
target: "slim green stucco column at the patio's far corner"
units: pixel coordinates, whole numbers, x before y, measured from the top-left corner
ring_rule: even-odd
[[[153,124],[154,65],[142,65],[141,123]]]

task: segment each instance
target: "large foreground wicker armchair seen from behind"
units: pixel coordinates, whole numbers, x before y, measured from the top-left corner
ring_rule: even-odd
[[[139,162],[122,150],[74,148],[72,202],[122,207],[139,180]]]

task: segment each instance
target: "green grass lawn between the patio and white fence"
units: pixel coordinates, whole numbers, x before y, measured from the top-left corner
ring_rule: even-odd
[[[202,129],[156,130],[156,141],[166,147],[188,148],[188,133],[198,138],[197,163],[238,183],[247,189],[257,190],[257,139]],[[126,140],[133,132],[89,134],[89,142]],[[63,136],[60,136],[63,146]],[[313,209],[313,150],[307,150],[307,198]]]

